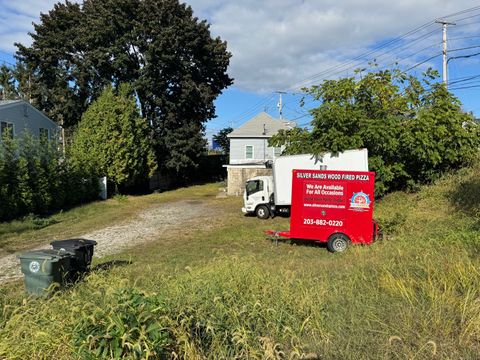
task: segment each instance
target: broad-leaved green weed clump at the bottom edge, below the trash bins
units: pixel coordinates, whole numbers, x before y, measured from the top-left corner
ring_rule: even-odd
[[[123,288],[97,300],[78,304],[73,343],[82,358],[157,359],[171,352],[167,311],[158,296]]]

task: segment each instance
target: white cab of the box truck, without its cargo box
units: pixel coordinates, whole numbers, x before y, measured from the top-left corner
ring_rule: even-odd
[[[260,219],[268,219],[271,215],[271,199],[273,198],[273,177],[256,176],[248,179],[243,193],[243,213],[255,214]]]

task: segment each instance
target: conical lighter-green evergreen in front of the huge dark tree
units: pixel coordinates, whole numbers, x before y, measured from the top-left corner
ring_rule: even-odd
[[[115,186],[131,186],[156,169],[148,124],[131,88],[108,86],[90,105],[74,135],[71,156],[77,168],[107,176]]]

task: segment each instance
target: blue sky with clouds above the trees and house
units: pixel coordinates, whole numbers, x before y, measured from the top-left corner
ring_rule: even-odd
[[[56,1],[0,0],[0,62],[13,62],[14,42],[28,45],[32,22]],[[448,27],[450,89],[465,111],[480,117],[480,2],[471,0],[188,0],[213,36],[232,53],[234,84],[216,100],[207,137],[240,126],[260,111],[308,126],[318,106],[301,89],[325,79],[353,76],[375,60],[414,75],[442,70],[442,26]],[[470,56],[470,57],[466,57]],[[396,65],[395,65],[396,64]],[[479,75],[478,77],[475,77]]]

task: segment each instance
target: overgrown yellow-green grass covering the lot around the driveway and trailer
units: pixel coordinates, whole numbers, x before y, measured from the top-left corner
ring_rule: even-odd
[[[375,209],[384,240],[334,255],[266,240],[288,219],[244,217],[215,185],[129,198],[136,209],[114,220],[180,198],[207,198],[218,217],[101,259],[118,266],[49,299],[0,287],[0,357],[477,359],[479,175],[388,195]]]

